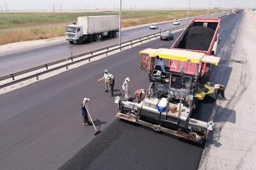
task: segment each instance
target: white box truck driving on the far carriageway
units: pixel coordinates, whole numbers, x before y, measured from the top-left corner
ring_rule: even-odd
[[[77,22],[66,27],[66,40],[73,43],[95,42],[99,36],[115,37],[119,30],[119,16],[78,17]]]

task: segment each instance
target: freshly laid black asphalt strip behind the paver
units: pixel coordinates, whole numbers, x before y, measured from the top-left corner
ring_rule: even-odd
[[[202,148],[116,120],[60,169],[197,169]]]

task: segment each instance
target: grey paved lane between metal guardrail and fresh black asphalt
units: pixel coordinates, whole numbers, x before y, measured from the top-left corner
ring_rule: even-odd
[[[222,23],[235,19],[225,16]],[[91,113],[104,134],[104,129],[115,120],[117,108],[97,79],[108,68],[116,77],[115,93],[120,93],[118,89],[125,77],[131,77],[132,91],[147,88],[147,73],[138,68],[138,51],[147,47],[168,48],[170,42],[148,42],[1,95],[1,169],[57,169],[88,144],[94,132],[92,127],[81,125],[80,104],[84,97],[92,99]],[[193,146],[184,149],[180,153],[201,152]]]

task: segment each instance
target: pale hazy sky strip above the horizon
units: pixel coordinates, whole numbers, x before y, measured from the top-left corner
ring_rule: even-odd
[[[0,0],[1,9],[9,10],[56,10],[118,8],[120,0]],[[122,0],[123,8],[188,8],[189,0]],[[221,8],[255,7],[256,0],[191,0],[191,8]]]

